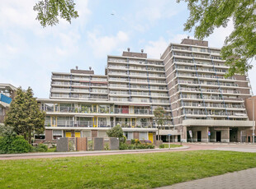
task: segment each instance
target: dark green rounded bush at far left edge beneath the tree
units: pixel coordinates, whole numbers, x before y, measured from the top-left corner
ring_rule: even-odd
[[[0,154],[27,153],[32,151],[32,145],[23,136],[0,137]]]

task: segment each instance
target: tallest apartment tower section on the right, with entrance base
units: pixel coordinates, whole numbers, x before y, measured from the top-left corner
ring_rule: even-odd
[[[247,76],[225,78],[228,68],[219,48],[183,39],[163,56],[173,124],[182,141],[245,141],[252,123],[244,108],[251,96]]]

